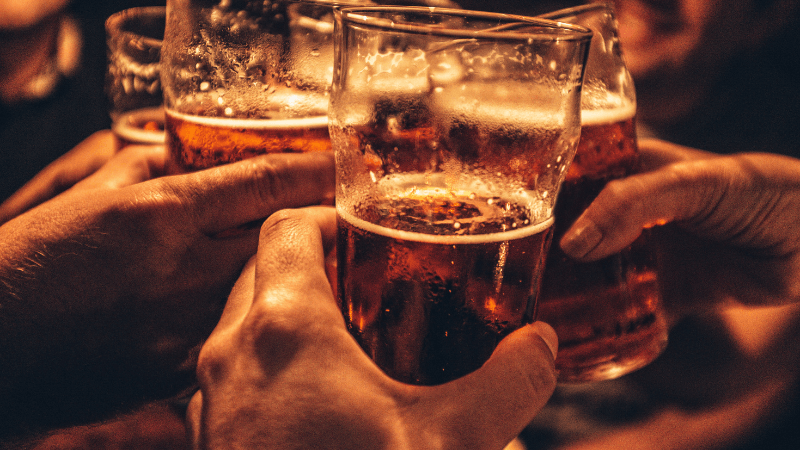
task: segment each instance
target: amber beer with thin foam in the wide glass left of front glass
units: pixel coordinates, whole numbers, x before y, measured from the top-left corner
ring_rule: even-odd
[[[234,119],[166,113],[167,145],[182,171],[241,161],[265,153],[330,151],[327,116]]]

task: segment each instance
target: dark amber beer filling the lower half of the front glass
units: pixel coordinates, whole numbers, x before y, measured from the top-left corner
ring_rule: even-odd
[[[389,376],[450,381],[531,321],[552,218],[438,188],[337,211],[345,321]]]

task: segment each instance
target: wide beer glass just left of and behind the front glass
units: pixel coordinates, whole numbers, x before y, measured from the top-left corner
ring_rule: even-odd
[[[173,171],[330,151],[332,10],[342,3],[169,0],[162,81]]]

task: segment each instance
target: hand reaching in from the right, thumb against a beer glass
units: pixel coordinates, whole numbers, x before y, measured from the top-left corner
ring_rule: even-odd
[[[645,172],[608,184],[562,239],[567,254],[598,259],[670,223],[654,231],[665,302],[676,313],[800,300],[800,161],[655,140],[640,148]]]

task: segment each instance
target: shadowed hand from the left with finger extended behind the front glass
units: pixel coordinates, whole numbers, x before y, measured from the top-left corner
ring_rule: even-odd
[[[149,179],[166,160],[163,146],[126,147],[0,227],[0,436],[186,387],[256,252],[243,226],[333,197],[332,154]]]

